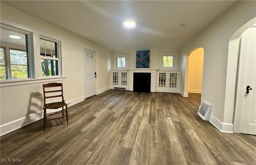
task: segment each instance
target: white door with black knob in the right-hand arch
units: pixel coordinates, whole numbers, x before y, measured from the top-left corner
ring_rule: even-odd
[[[256,135],[256,27],[242,34],[237,98],[242,107],[240,133]]]

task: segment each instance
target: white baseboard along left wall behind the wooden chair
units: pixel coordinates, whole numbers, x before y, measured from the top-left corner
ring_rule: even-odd
[[[77,104],[78,102],[81,102],[83,100],[84,100],[84,96],[81,96],[79,98],[70,100],[68,102],[66,101],[66,103],[69,104],[68,106],[72,106],[72,105]],[[57,111],[57,110],[54,110],[54,111]],[[61,108],[59,110],[61,110]],[[42,110],[42,111],[38,111],[38,112],[36,112],[34,114],[30,114],[28,116],[24,116],[22,118],[14,120],[12,122],[8,122],[6,124],[2,124],[0,126],[0,136],[2,136],[4,134],[7,134],[9,132],[12,132],[14,130],[17,130],[18,128],[26,126],[26,125],[28,125],[30,123],[36,122],[37,120],[42,119],[43,118],[43,114],[44,114],[44,112]]]

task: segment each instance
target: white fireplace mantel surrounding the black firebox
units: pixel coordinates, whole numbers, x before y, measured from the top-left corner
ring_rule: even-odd
[[[133,73],[151,73],[150,92],[156,92],[156,71],[159,68],[130,68],[129,71],[129,90],[133,91]]]

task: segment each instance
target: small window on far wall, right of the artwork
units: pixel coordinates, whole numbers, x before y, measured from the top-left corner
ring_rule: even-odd
[[[176,56],[177,53],[162,53],[162,68],[171,69],[176,68]]]

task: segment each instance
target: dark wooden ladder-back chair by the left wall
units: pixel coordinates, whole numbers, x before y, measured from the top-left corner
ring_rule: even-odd
[[[68,124],[68,104],[66,104],[66,102],[64,101],[62,83],[43,84],[43,89],[44,89],[44,108],[43,108],[44,130],[45,130],[46,122],[49,120],[56,120],[59,118],[66,117],[67,124]],[[66,110],[64,110],[64,106],[66,106]],[[62,110],[57,112],[46,113],[47,109],[58,109],[58,108],[62,108]],[[66,112],[66,114],[64,112]],[[47,116],[61,114],[61,113],[62,113],[61,117],[51,118],[47,120]]]

